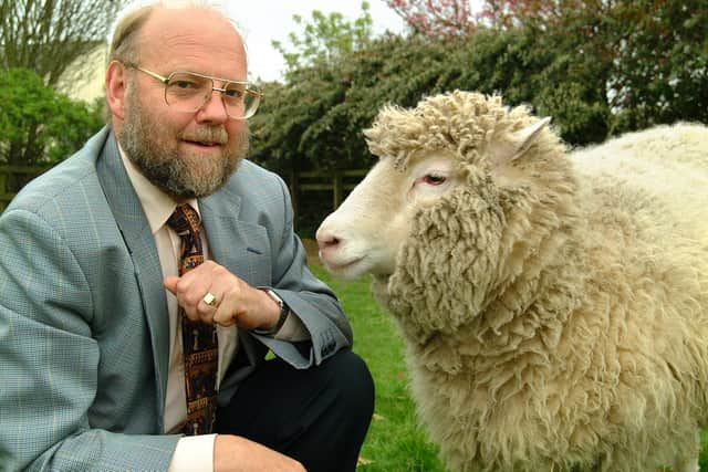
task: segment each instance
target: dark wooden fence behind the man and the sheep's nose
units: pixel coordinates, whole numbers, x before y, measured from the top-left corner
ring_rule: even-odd
[[[12,179],[29,181],[48,169],[49,167],[46,166],[0,166],[0,211],[4,210],[14,197],[14,193],[8,190],[8,182],[12,181]],[[300,210],[302,192],[308,191],[332,192],[332,210],[336,209],[346,193],[366,175],[366,169],[335,170],[332,174],[308,171],[291,172],[290,176],[284,176],[290,187],[295,214]]]

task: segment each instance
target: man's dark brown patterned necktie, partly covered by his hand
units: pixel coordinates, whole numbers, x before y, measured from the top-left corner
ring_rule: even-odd
[[[204,262],[199,239],[199,214],[189,204],[180,204],[167,220],[181,240],[179,275]],[[187,436],[211,432],[217,406],[217,331],[216,326],[192,322],[180,306],[181,339],[187,392],[187,422],[181,432]]]

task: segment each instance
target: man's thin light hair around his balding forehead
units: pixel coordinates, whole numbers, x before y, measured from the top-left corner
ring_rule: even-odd
[[[150,14],[159,9],[204,8],[214,10],[231,24],[242,39],[242,34],[229,12],[214,0],[152,0],[136,1],[118,14],[113,28],[108,62],[134,62],[138,55],[139,33]],[[244,46],[246,48],[246,46]]]

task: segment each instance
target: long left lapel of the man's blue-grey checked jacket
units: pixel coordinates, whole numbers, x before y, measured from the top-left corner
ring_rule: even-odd
[[[137,195],[121,161],[113,133],[106,139],[96,162],[101,185],[127,247],[140,291],[143,310],[150,332],[154,368],[157,377],[158,418],[164,417],[169,365],[169,317],[163,286],[163,271],[155,239]]]

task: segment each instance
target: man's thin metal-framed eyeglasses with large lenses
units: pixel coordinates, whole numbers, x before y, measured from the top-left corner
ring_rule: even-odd
[[[233,119],[248,119],[256,114],[263,93],[248,82],[210,77],[194,72],[173,72],[164,77],[135,64],[124,64],[138,70],[165,84],[165,103],[177,112],[194,113],[201,109],[214,91],[221,93],[227,115]],[[223,82],[222,87],[214,81]]]

